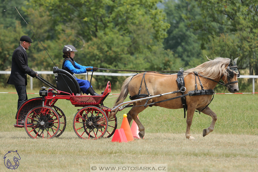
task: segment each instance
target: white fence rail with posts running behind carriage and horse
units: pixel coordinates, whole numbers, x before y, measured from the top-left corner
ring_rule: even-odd
[[[53,74],[53,71],[36,71],[38,74]],[[11,74],[11,71],[0,71],[0,74]],[[91,75],[92,72],[88,72],[88,75]],[[133,76],[136,73],[107,73],[107,72],[93,72],[93,75],[99,76]],[[85,75],[85,79],[87,79],[87,73],[75,74],[75,75]],[[240,75],[239,78],[252,78],[253,79],[253,92],[254,93],[254,79],[258,78],[258,75]],[[30,89],[33,89],[33,78],[30,77]]]

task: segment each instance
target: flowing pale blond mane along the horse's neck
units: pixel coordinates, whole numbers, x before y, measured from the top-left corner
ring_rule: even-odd
[[[184,73],[184,77],[189,73],[198,72],[201,75],[210,78],[216,79],[218,76],[227,75],[226,66],[228,66],[230,59],[217,57],[214,60],[202,63],[201,65],[188,69]]]

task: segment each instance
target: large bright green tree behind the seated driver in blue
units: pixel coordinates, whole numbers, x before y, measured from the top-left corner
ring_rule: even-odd
[[[68,3],[64,0],[31,0],[28,5],[35,11],[39,11],[37,9],[42,9],[42,12],[47,11],[49,20],[53,21],[49,22],[48,27],[55,32],[55,43],[48,46],[51,54],[56,45],[71,44],[79,49],[76,53],[76,62],[85,66],[107,69],[161,70],[162,68],[165,70],[164,68],[168,67],[174,56],[171,52],[164,52],[160,53],[162,57],[154,57],[153,49],[165,51],[162,49],[162,42],[169,27],[169,24],[164,22],[165,13],[157,8],[158,2],[159,0],[101,2],[73,0]],[[42,15],[42,12],[39,12],[41,13],[39,16]],[[35,25],[37,20],[33,21]],[[61,35],[69,39],[57,39]],[[37,56],[42,56],[44,53],[39,53]],[[160,58],[169,60],[163,62]],[[150,59],[152,59],[151,62]],[[44,60],[43,63],[47,64],[47,61],[49,60]],[[158,65],[159,63],[162,64]],[[152,64],[156,64],[155,69],[150,69],[153,67]],[[117,77],[111,79],[114,83],[122,82],[122,80],[118,81]],[[98,80],[103,81],[103,83],[100,81],[99,87],[104,87],[110,77],[102,77]]]

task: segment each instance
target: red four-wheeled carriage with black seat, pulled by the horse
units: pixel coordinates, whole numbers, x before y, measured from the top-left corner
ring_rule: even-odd
[[[111,137],[117,128],[117,118],[114,116],[108,120],[111,110],[103,105],[111,92],[110,82],[101,96],[82,96],[73,75],[57,67],[53,67],[53,73],[56,86],[37,77],[50,88],[42,87],[39,91],[41,97],[28,99],[19,107],[14,127],[25,127],[31,138],[59,137],[66,128],[66,116],[55,103],[58,99],[66,99],[75,107],[81,107],[73,119],[73,129],[78,137]]]

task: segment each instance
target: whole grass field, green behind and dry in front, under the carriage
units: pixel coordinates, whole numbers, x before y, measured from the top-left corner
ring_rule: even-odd
[[[28,98],[37,96],[28,94]],[[258,171],[257,94],[215,95],[209,105],[218,116],[215,130],[202,137],[211,117],[195,113],[191,127],[195,141],[185,139],[182,109],[149,107],[139,114],[144,139],[127,143],[79,139],[72,126],[78,108],[67,100],[56,103],[66,114],[65,132],[59,138],[30,139],[24,128],[13,127],[17,99],[17,94],[0,93],[0,171],[8,170],[3,157],[10,150],[18,150],[21,157],[16,171],[90,171],[90,164],[168,164],[168,171]],[[114,99],[109,96],[104,105],[112,107]],[[117,113],[118,128],[128,111]]]

